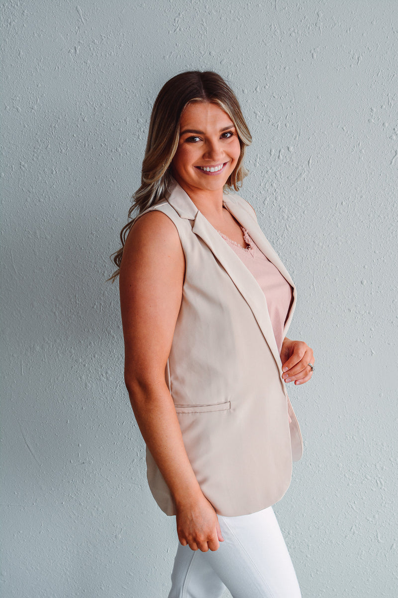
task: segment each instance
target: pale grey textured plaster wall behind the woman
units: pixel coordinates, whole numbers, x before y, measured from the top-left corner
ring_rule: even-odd
[[[2,4],[1,596],[167,595],[174,521],[147,489],[105,279],[153,100],[186,69],[242,103],[241,194],[316,355],[275,507],[303,597],[396,596],[396,1],[78,1]]]

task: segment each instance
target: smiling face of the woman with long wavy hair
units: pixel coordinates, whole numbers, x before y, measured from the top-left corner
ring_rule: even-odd
[[[193,102],[180,118],[172,173],[184,191],[220,191],[240,155],[235,126],[219,106]]]

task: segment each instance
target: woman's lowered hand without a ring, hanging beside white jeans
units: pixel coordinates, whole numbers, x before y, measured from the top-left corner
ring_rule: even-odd
[[[195,499],[176,504],[177,534],[183,546],[191,550],[218,550],[224,541],[217,514],[202,492]]]

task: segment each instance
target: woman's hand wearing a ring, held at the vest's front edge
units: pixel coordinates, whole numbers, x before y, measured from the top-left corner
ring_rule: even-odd
[[[285,337],[280,352],[282,361],[283,380],[295,385],[308,382],[312,376],[310,365],[314,365],[314,353],[302,340],[290,340]]]

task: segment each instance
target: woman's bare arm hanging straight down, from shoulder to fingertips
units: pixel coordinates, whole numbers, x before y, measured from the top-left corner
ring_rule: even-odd
[[[127,237],[120,271],[125,383],[141,434],[173,496],[181,544],[217,550],[217,515],[190,465],[165,382],[184,271],[171,220],[161,212],[141,216]]]

